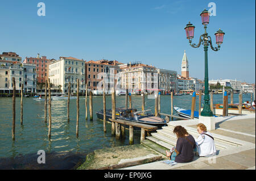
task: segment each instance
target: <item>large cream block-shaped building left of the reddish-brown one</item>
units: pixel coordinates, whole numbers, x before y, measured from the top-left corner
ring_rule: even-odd
[[[79,79],[79,91],[85,91],[85,61],[74,57],[60,57],[49,64],[49,79],[53,86],[59,87],[61,93],[68,93],[68,83],[71,82],[71,92],[77,91],[76,79]]]

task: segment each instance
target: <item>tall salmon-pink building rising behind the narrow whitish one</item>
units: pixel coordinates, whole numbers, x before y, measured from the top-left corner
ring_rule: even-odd
[[[48,60],[46,56],[39,57],[39,53],[36,57],[26,57],[23,64],[35,64],[36,65],[36,79],[38,83],[45,83],[49,77],[49,64],[53,60]]]

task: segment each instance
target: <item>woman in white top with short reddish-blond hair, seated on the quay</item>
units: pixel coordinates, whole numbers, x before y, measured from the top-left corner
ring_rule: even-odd
[[[197,132],[199,137],[196,138],[197,152],[200,157],[211,157],[216,155],[216,148],[214,145],[214,138],[211,133],[207,132],[207,127],[203,123],[199,123]]]

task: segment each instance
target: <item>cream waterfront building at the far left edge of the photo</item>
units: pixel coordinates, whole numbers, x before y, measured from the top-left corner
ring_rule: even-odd
[[[0,54],[0,92],[13,91],[13,77],[15,78],[16,91],[20,92],[23,84],[22,58],[14,52]]]

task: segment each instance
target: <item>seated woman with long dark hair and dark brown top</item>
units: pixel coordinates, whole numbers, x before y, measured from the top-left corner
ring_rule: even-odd
[[[196,142],[193,136],[188,134],[187,130],[181,126],[174,128],[177,136],[176,148],[166,151],[166,156],[177,163],[187,163],[193,161]]]

